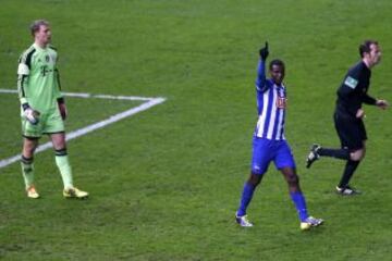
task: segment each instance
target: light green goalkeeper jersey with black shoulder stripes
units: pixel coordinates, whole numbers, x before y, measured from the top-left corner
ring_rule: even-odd
[[[28,103],[40,113],[50,113],[62,98],[57,69],[58,53],[51,46],[36,44],[25,50],[19,61],[17,89],[21,104]]]

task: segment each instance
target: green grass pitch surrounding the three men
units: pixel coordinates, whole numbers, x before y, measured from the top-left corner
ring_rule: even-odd
[[[0,0],[0,88],[15,88],[28,24],[52,23],[66,91],[166,97],[160,105],[69,144],[85,201],[62,199],[51,151],[36,156],[40,200],[28,200],[17,163],[0,169],[4,260],[390,260],[391,113],[366,108],[364,195],[333,194],[343,163],[304,167],[314,141],[338,146],[335,89],[365,38],[383,61],[370,94],[392,100],[392,2]],[[270,167],[248,214],[234,224],[256,123],[255,69],[265,40],[286,62],[286,137],[310,213],[301,233],[286,185]],[[128,108],[69,98],[70,130]],[[132,104],[131,105],[136,105]],[[0,154],[19,151],[15,97],[0,94]],[[81,116],[75,116],[81,115]],[[72,127],[73,126],[73,127]]]

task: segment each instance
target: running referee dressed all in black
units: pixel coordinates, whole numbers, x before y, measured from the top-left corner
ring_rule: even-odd
[[[381,60],[381,50],[376,40],[365,40],[359,45],[360,61],[348,70],[343,83],[338,89],[336,107],[333,114],[334,126],[341,141],[340,149],[323,148],[313,145],[307,157],[307,167],[320,157],[333,157],[346,161],[343,175],[336,192],[343,196],[352,196],[360,191],[350,186],[355,170],[365,157],[365,141],[367,139],[365,124],[365,111],[363,103],[377,105],[382,110],[389,107],[388,101],[370,97],[371,69]]]

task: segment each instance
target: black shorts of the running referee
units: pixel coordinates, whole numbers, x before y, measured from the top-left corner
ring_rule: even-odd
[[[367,135],[363,120],[339,113],[334,113],[333,120],[342,148],[346,147],[350,151],[364,148],[364,141],[367,139]]]

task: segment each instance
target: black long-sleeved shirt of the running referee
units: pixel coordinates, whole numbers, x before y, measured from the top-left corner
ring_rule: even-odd
[[[360,61],[348,70],[338,89],[335,112],[342,116],[355,117],[362,103],[376,104],[376,99],[368,96],[371,71]]]

